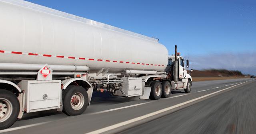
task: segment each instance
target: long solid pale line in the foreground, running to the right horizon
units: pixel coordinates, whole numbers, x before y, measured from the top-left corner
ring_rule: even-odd
[[[251,80],[251,81],[252,81],[252,80]],[[248,81],[246,81],[246,82],[248,82]],[[245,82],[244,82],[244,83],[245,83]],[[241,83],[241,84],[243,84],[243,83]],[[240,85],[240,84],[238,84],[238,85]],[[237,85],[234,85],[234,86],[232,86],[232,87],[235,87],[235,86],[237,86]],[[230,88],[232,88],[232,87],[228,87],[228,88],[226,88],[226,89],[230,89]],[[219,92],[221,92],[221,91],[224,91],[224,90],[226,90],[226,89],[222,89],[222,90],[216,91],[216,92],[214,92],[214,93],[210,93],[210,94],[208,94],[208,95],[204,95],[204,96],[202,96],[202,97],[198,97],[198,98],[196,98],[196,99],[192,99],[192,100],[190,100],[190,101],[186,101],[186,102],[183,102],[183,103],[180,103],[180,104],[176,104],[176,105],[174,105],[174,106],[170,106],[170,107],[168,107],[168,108],[164,108],[164,109],[162,109],[162,110],[158,110],[158,111],[156,111],[156,112],[152,112],[152,113],[150,113],[150,114],[146,114],[146,115],[143,115],[143,116],[140,116],[140,117],[137,117],[137,118],[133,118],[133,119],[131,119],[131,120],[127,120],[127,121],[124,121],[124,122],[121,122],[121,123],[118,123],[118,124],[114,124],[114,125],[112,125],[112,126],[108,126],[108,127],[105,127],[105,128],[101,128],[101,129],[98,129],[98,130],[95,130],[95,131],[92,131],[92,132],[89,132],[89,133],[86,133],[86,134],[100,134],[100,133],[106,132],[106,131],[108,131],[108,130],[112,130],[112,129],[118,128],[118,127],[120,127],[120,126],[124,126],[124,125],[130,124],[130,123],[136,122],[136,121],[138,121],[138,120],[142,120],[142,119],[144,119],[144,118],[148,118],[148,117],[150,117],[150,116],[154,116],[154,115],[156,115],[156,114],[160,114],[160,113],[162,113],[162,112],[171,110],[171,109],[173,109],[173,108],[182,106],[182,105],[184,105],[184,104],[188,104],[188,103],[190,103],[190,102],[197,101],[197,100],[199,100],[199,99],[202,99],[202,98],[208,97],[208,96],[210,96],[210,95],[213,95],[213,94],[219,93]]]

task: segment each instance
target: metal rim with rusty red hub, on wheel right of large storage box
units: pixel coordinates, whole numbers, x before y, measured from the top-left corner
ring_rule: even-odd
[[[75,93],[70,100],[71,107],[74,110],[79,110],[84,106],[84,95],[81,93]]]

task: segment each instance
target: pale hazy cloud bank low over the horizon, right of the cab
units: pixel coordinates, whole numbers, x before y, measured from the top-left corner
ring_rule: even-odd
[[[190,55],[190,69],[228,69],[256,75],[256,52]]]

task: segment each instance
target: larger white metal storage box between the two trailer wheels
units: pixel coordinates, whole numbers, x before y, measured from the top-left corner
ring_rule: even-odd
[[[25,80],[19,86],[26,94],[26,112],[60,108],[60,80]]]

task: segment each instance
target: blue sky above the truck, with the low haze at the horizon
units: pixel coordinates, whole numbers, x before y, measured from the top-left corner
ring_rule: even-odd
[[[159,38],[189,69],[229,69],[256,75],[255,0],[26,0]]]

